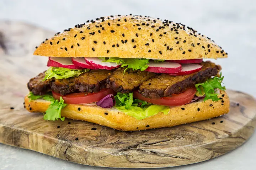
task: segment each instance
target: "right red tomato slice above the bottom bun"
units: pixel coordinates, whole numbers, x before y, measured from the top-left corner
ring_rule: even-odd
[[[138,91],[133,92],[133,96],[135,98],[138,98],[140,100],[153,103],[153,104],[159,104],[164,106],[181,106],[184,104],[189,103],[196,94],[196,88],[188,88],[186,91],[180,94],[173,94],[171,97],[161,97],[161,98],[147,98],[139,94]]]

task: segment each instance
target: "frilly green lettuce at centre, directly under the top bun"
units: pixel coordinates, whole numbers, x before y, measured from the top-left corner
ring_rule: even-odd
[[[113,63],[118,63],[118,64],[122,64],[121,67],[125,67],[127,66],[126,69],[124,69],[124,72],[128,69],[131,68],[133,70],[141,70],[144,71],[145,69],[148,68],[148,63],[149,63],[149,59],[146,58],[117,58],[117,57],[113,57],[113,58],[102,58],[104,59],[104,61],[102,62],[113,62]],[[155,62],[162,62],[164,60],[154,60]]]

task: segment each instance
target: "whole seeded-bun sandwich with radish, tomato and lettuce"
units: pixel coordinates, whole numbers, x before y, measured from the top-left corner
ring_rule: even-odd
[[[48,69],[29,80],[29,112],[122,131],[171,127],[229,112],[222,47],[191,27],[117,15],[77,24],[44,40],[34,55]]]

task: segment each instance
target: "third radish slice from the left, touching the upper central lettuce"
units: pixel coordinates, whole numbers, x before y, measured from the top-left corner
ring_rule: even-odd
[[[114,68],[119,68],[121,64],[117,63],[109,63],[109,62],[102,62],[104,61],[103,59],[100,58],[85,58],[85,61],[87,64],[90,64],[92,67],[95,67],[97,69],[106,69],[106,70],[111,70]]]

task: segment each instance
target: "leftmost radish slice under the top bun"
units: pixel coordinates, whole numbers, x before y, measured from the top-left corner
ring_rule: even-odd
[[[51,67],[63,67],[63,68],[70,68],[70,69],[82,69],[79,66],[75,66],[72,61],[71,58],[69,57],[49,57],[49,60],[47,62],[47,66],[51,66]]]

